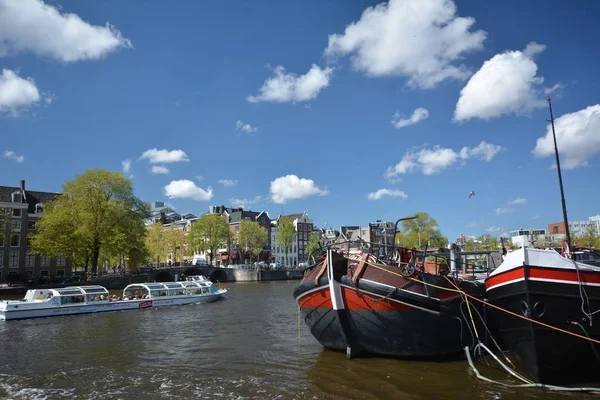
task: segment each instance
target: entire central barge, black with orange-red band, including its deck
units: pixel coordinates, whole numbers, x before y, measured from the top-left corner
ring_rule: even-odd
[[[483,284],[402,271],[369,254],[345,257],[330,249],[294,297],[313,336],[348,356],[442,358],[474,344],[467,304],[456,287],[483,298]],[[481,310],[474,303],[473,313]]]

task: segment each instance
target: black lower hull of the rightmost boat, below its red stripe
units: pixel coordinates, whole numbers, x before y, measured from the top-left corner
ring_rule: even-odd
[[[587,286],[592,311],[600,308],[600,287]],[[581,311],[577,284],[521,281],[488,292],[492,304],[562,329],[600,340],[600,315],[590,326]],[[536,382],[574,385],[600,382],[600,346],[501,311],[492,318],[504,346]]]

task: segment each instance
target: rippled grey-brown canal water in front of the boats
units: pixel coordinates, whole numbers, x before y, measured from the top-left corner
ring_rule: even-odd
[[[297,283],[225,284],[228,298],[212,304],[2,321],[0,399],[584,398],[488,384],[465,361],[347,360],[299,325]]]

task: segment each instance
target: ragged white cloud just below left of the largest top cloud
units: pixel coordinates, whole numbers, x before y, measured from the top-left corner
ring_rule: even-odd
[[[274,76],[263,83],[256,96],[248,96],[250,103],[272,101],[276,103],[300,102],[315,99],[329,86],[333,68],[313,64],[304,75],[286,73],[281,65],[273,69]]]

